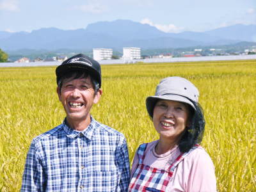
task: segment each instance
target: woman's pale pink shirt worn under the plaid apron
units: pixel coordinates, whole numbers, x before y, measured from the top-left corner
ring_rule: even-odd
[[[148,143],[144,164],[164,169],[180,154],[179,147],[175,147],[165,154],[157,155],[154,148],[157,141]],[[138,164],[138,155],[135,154],[132,162],[131,175]],[[212,192],[216,191],[216,177],[211,157],[204,148],[196,148],[181,161],[173,172],[166,191]]]

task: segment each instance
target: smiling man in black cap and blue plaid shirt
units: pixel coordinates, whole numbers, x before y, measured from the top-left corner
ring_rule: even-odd
[[[124,135],[90,115],[102,95],[99,63],[77,54],[56,68],[56,76],[67,116],[32,141],[21,191],[127,191]]]

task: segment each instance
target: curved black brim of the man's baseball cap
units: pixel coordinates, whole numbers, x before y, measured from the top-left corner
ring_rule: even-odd
[[[90,74],[90,76],[92,76],[93,79],[95,79],[99,83],[99,87],[101,86],[101,78],[100,78],[99,72],[97,72],[97,70],[95,70],[92,67],[89,67],[87,65],[80,64],[80,63],[70,63],[67,65],[59,65],[56,68],[57,83],[60,80],[60,77],[62,77],[67,72],[77,71],[77,70],[88,72],[88,74]]]

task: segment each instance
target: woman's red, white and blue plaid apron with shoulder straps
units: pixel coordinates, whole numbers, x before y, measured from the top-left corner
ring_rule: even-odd
[[[147,143],[141,144],[137,152],[139,162],[137,164],[135,172],[132,175],[128,191],[164,192],[166,186],[168,186],[168,183],[172,178],[173,171],[175,170],[177,165],[184,159],[184,157],[188,156],[188,154],[195,150],[195,148],[197,147],[199,147],[198,144],[192,147],[188,152],[180,153],[180,155],[175,159],[175,161],[172,164],[170,164],[170,166],[168,166],[167,169],[161,170],[143,164],[143,161],[146,156],[145,150],[147,148]]]

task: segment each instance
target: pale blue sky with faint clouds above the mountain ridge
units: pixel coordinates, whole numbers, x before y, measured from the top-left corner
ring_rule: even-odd
[[[256,0],[0,0],[0,31],[86,28],[128,19],[165,32],[256,24]]]

